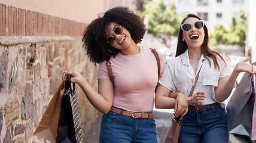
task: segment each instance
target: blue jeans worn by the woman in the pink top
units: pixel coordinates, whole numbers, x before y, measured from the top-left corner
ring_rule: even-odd
[[[157,143],[156,121],[150,118],[133,118],[109,111],[103,114],[99,142]]]

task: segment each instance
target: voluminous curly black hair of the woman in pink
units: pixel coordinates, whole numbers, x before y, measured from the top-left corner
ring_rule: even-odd
[[[98,18],[93,20],[83,33],[83,47],[92,63],[102,63],[102,61],[109,60],[111,56],[115,57],[120,52],[119,49],[109,52],[111,45],[106,42],[104,36],[106,27],[111,22],[125,27],[135,43],[140,43],[144,38],[147,29],[143,19],[129,10],[128,7],[115,7],[106,11],[103,17],[100,15],[102,14],[98,14]]]

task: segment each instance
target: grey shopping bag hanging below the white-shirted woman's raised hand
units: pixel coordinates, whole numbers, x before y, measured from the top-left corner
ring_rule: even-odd
[[[227,124],[230,133],[251,136],[254,100],[252,75],[245,73],[227,104]]]

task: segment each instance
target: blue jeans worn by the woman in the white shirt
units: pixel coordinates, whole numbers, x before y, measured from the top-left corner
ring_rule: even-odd
[[[179,142],[227,143],[229,133],[225,109],[220,104],[197,111],[188,110],[183,117]]]

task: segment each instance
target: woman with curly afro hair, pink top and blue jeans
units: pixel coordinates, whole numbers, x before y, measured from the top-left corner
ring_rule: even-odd
[[[157,142],[154,91],[165,62],[157,51],[159,74],[151,49],[137,45],[146,30],[142,18],[127,7],[115,7],[98,15],[83,36],[90,61],[100,64],[98,92],[80,73],[63,73],[72,75],[71,82],[78,83],[90,103],[103,113],[99,142]]]

